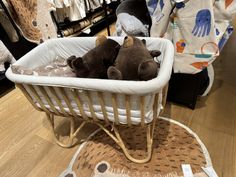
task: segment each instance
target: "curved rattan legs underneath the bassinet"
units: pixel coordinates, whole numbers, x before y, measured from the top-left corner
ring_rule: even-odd
[[[102,123],[99,122],[95,122],[95,121],[88,121],[85,120],[83,121],[78,127],[75,127],[75,119],[73,117],[70,117],[70,133],[69,133],[69,138],[68,138],[68,143],[63,143],[60,141],[59,136],[56,134],[55,132],[55,125],[54,125],[54,115],[53,114],[48,114],[46,113],[47,118],[51,124],[52,127],[52,131],[55,137],[55,141],[56,143],[61,146],[61,147],[65,147],[65,148],[69,148],[74,146],[75,144],[77,144],[76,141],[74,141],[74,138],[79,134],[80,130],[84,127],[84,125],[86,123],[94,123],[96,125],[98,125],[108,136],[110,136],[116,143],[117,145],[122,149],[122,151],[124,152],[125,156],[132,162],[135,163],[146,163],[151,159],[152,156],[152,145],[153,145],[153,133],[154,133],[154,128],[155,128],[155,120],[152,121],[151,124],[148,124],[144,127],[146,127],[146,138],[147,138],[147,156],[144,159],[136,159],[134,157],[132,157],[130,155],[130,153],[128,152],[128,149],[126,148],[124,141],[122,140],[119,130],[117,129],[117,127],[115,126],[115,124],[112,124],[111,127],[112,129],[109,130],[107,128],[107,124],[104,125]]]

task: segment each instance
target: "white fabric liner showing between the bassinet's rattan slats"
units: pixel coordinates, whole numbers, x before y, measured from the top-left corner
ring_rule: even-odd
[[[104,120],[102,108],[98,103],[99,100],[97,97],[93,97],[93,98],[94,98],[93,99],[93,103],[94,103],[93,109],[95,111],[95,115],[98,119]],[[122,99],[123,99],[122,96],[119,95],[118,96],[118,120],[119,120],[119,123],[121,123],[121,124],[127,124],[127,112],[126,112],[125,105],[122,103]],[[140,102],[137,102],[138,97],[133,96],[133,98],[131,98],[131,99],[132,99],[131,105],[133,105],[133,106],[132,106],[132,109],[130,110],[130,115],[131,115],[130,119],[131,119],[132,124],[137,125],[137,124],[141,123]],[[152,105],[154,102],[154,95],[148,95],[144,99],[145,99],[145,102],[147,103],[145,110],[144,110],[144,122],[150,123],[153,120]],[[106,98],[106,101],[108,101],[108,100],[109,100],[109,96]],[[163,108],[161,101],[162,101],[162,97],[160,96],[159,100],[158,100],[157,115],[159,115],[161,109]],[[46,108],[51,109],[45,99],[43,99],[43,102],[45,103]],[[61,103],[62,103],[65,111],[67,113],[70,113],[70,110],[66,105],[66,102],[64,100],[61,100]],[[57,110],[60,110],[60,108],[58,106],[56,106],[57,104],[56,103],[54,103],[54,104],[55,104],[55,108]],[[75,101],[72,100],[71,105],[73,107],[73,110],[76,112],[76,114],[81,116],[81,113],[80,113]],[[40,105],[38,103],[37,103],[37,106],[40,107]],[[86,103],[83,104],[83,109],[84,109],[85,114],[88,117],[93,117],[93,115],[90,112],[88,104],[86,104]],[[106,109],[108,120],[111,122],[115,122],[113,107],[111,107],[111,105],[110,106],[107,105],[107,106],[105,106],[105,109]],[[53,110],[51,110],[51,111],[53,111]]]

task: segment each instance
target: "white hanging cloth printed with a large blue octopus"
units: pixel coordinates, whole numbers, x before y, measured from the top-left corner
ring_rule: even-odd
[[[176,9],[172,24],[175,72],[200,72],[219,55],[214,25],[211,0],[188,1]]]

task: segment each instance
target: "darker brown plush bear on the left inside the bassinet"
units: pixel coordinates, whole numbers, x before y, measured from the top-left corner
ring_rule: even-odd
[[[114,64],[119,49],[116,41],[101,35],[96,39],[95,48],[82,57],[69,57],[67,64],[77,77],[106,79],[107,69]]]

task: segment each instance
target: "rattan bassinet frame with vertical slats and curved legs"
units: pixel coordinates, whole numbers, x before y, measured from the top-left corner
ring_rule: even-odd
[[[89,91],[84,91],[84,94],[86,95],[86,97],[88,98],[88,103],[89,103],[89,108],[90,111],[92,113],[92,117],[89,118],[86,116],[86,114],[84,113],[83,107],[82,107],[82,103],[81,101],[78,99],[79,95],[81,94],[81,91],[78,91],[76,89],[70,89],[71,94],[74,96],[74,99],[76,101],[76,104],[78,106],[78,109],[81,111],[82,116],[78,116],[74,110],[72,105],[70,104],[69,98],[67,97],[66,93],[64,92],[63,88],[59,88],[61,91],[61,95],[64,97],[64,100],[66,101],[66,104],[70,110],[70,113],[67,113],[62,104],[60,99],[57,96],[57,93],[55,92],[53,87],[48,87],[48,89],[51,91],[53,98],[56,100],[57,104],[59,105],[60,111],[57,110],[57,108],[55,108],[54,104],[51,101],[51,98],[48,96],[44,86],[32,86],[32,85],[27,85],[25,87],[28,87],[32,93],[32,96],[35,98],[35,100],[37,100],[37,102],[40,105],[40,108],[35,105],[32,96],[30,96],[28,94],[28,92],[26,91],[25,87],[22,86],[21,84],[16,84],[16,86],[18,88],[20,88],[20,90],[23,92],[23,94],[26,96],[26,98],[30,101],[30,103],[34,106],[35,109],[37,109],[38,111],[44,111],[46,113],[46,116],[51,124],[52,127],[52,131],[54,133],[54,137],[55,137],[55,141],[58,145],[62,146],[62,147],[72,147],[74,144],[76,144],[76,142],[73,141],[73,139],[78,135],[78,133],[80,132],[80,130],[87,124],[87,123],[94,123],[96,125],[98,125],[102,130],[104,130],[107,135],[109,135],[119,146],[120,148],[123,150],[125,156],[135,162],[135,163],[145,163],[148,162],[151,159],[151,154],[152,154],[152,144],[153,144],[153,133],[155,130],[155,125],[156,125],[156,120],[158,118],[158,114],[157,114],[157,106],[158,106],[158,97],[159,97],[159,93],[155,94],[155,101],[153,104],[153,121],[149,124],[145,124],[144,123],[144,97],[140,97],[140,110],[141,110],[141,123],[138,125],[132,125],[131,124],[131,120],[130,120],[130,95],[125,95],[125,107],[126,107],[126,114],[127,114],[127,120],[128,120],[128,125],[121,125],[118,121],[118,112],[117,112],[117,105],[116,105],[116,95],[113,94],[112,95],[112,103],[113,103],[113,109],[115,112],[115,123],[110,122],[107,118],[106,115],[106,111],[105,111],[105,106],[104,106],[104,98],[103,98],[103,94],[101,92],[97,92],[98,97],[100,99],[100,106],[102,108],[103,111],[103,115],[105,118],[105,122],[103,120],[99,120],[98,118],[96,118],[95,112],[93,110],[93,105],[92,105],[92,100],[90,98],[90,94]],[[40,90],[40,92],[43,94],[44,98],[47,100],[48,104],[50,105],[50,109],[46,108],[46,106],[44,105],[43,101],[41,100],[40,96],[38,95],[37,91],[35,90],[35,88],[38,88]],[[162,99],[162,105],[163,108],[165,106],[165,102],[166,102],[166,95],[167,95],[167,90],[168,90],[168,85],[166,85],[166,87],[163,89],[163,99]],[[162,108],[162,110],[163,110]],[[53,110],[53,112],[51,111]],[[59,139],[57,134],[55,133],[55,126],[54,126],[54,116],[63,116],[63,117],[68,117],[70,119],[70,134],[69,134],[69,142],[67,144],[62,143]],[[80,118],[83,120],[83,122],[78,126],[75,127],[75,122],[76,120]],[[119,131],[117,129],[117,126],[142,126],[143,128],[146,128],[146,136],[147,136],[147,157],[144,159],[135,159],[133,158],[127,148],[125,147],[125,144],[119,134]],[[111,127],[111,129],[108,129],[108,127]],[[114,132],[114,133],[113,133]]]

